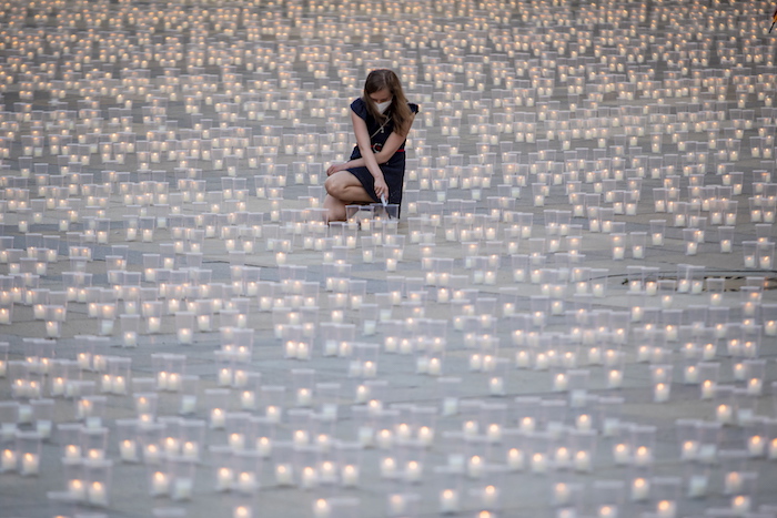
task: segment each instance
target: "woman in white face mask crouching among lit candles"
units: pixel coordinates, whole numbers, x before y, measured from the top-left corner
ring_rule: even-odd
[[[364,93],[351,103],[356,146],[351,160],[326,170],[329,221],[344,221],[345,205],[400,204],[405,176],[405,140],[418,105],[408,103],[396,74],[373,70]]]

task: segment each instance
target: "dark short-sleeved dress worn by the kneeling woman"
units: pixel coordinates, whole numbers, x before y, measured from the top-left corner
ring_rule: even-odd
[[[418,113],[417,104],[407,103],[407,105],[413,113]],[[383,144],[386,143],[389,135],[394,131],[394,122],[390,120],[383,129],[381,129],[381,124],[367,112],[367,106],[361,98],[351,103],[351,110],[366,122],[367,133],[371,135],[370,144],[373,150],[380,151]],[[380,164],[381,171],[383,171],[383,177],[386,180],[386,185],[389,185],[389,203],[397,205],[402,203],[402,184],[405,177],[405,142],[400,145],[396,153],[394,153],[386,163]],[[361,158],[362,153],[359,145],[356,145],[351,153],[350,160]],[[349,171],[359,179],[367,194],[375,202],[380,203],[381,200],[375,195],[375,179],[372,176],[370,170],[366,167],[351,167]]]

